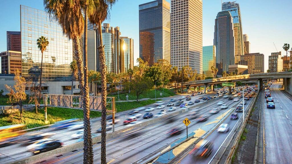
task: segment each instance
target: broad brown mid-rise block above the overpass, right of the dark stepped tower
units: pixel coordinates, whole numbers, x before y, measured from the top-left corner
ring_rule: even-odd
[[[248,66],[248,74],[265,72],[265,56],[261,53],[241,55],[239,64]]]

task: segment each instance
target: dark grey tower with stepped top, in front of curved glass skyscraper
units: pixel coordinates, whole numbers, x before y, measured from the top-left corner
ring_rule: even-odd
[[[218,75],[228,72],[228,65],[234,62],[233,18],[229,11],[221,11],[215,19],[214,46],[216,46],[216,67]]]

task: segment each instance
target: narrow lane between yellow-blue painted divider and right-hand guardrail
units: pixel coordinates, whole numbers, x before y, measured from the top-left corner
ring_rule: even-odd
[[[249,107],[253,98],[254,97],[246,101],[247,102],[245,106],[246,108]],[[213,142],[213,150],[207,158],[197,158],[196,156],[194,156],[194,152],[190,153],[193,149],[191,148],[188,151],[188,154],[183,159],[180,159],[179,162],[184,163],[184,164],[188,164],[188,163],[193,164],[194,162],[195,163],[211,163],[214,156],[216,155],[218,150],[221,148],[221,145],[226,141],[226,138],[229,137],[230,133],[232,132],[232,129],[239,125],[238,124],[239,121],[242,121],[242,112],[239,112],[238,115],[239,115],[238,116],[239,118],[237,120],[231,120],[230,118],[226,118],[226,120],[223,122],[223,123],[227,123],[230,126],[228,132],[226,133],[217,132],[218,128],[216,128],[210,135],[208,135],[208,137],[206,137],[206,140],[210,140]]]

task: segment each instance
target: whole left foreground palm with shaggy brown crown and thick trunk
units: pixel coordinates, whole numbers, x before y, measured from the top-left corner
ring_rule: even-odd
[[[84,33],[84,18],[81,13],[81,5],[84,0],[44,0],[44,7],[50,18],[56,20],[63,29],[69,39],[73,41],[74,55],[78,68],[78,81],[80,94],[83,101],[83,115],[84,115],[84,163],[93,164],[93,148],[91,138],[91,126],[89,118],[89,90],[88,83],[84,83],[84,69],[87,68],[83,64],[82,47],[80,44],[81,36]],[[87,21],[86,21],[87,22]],[[86,64],[87,65],[87,64]],[[86,78],[88,77],[85,74]],[[86,87],[87,86],[87,87]]]

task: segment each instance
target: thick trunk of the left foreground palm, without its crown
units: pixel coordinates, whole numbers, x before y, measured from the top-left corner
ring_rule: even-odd
[[[92,139],[91,139],[91,127],[90,127],[90,120],[89,120],[89,90],[88,90],[88,83],[87,88],[84,83],[84,68],[83,64],[83,56],[82,56],[82,48],[80,45],[80,38],[75,36],[73,39],[73,47],[74,47],[74,54],[77,62],[78,67],[78,81],[79,81],[79,88],[80,94],[83,101],[83,116],[84,116],[84,163],[93,164],[93,149],[92,149]]]

